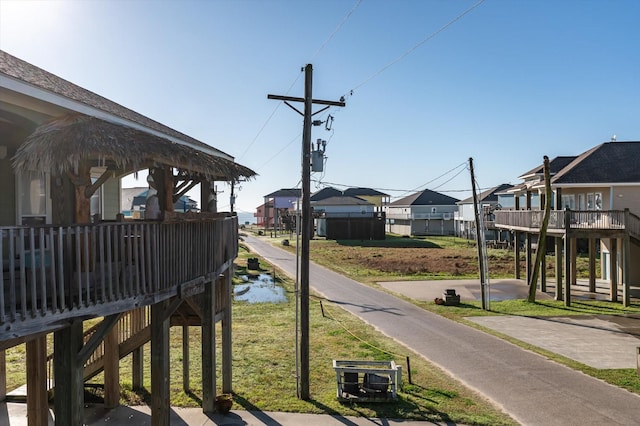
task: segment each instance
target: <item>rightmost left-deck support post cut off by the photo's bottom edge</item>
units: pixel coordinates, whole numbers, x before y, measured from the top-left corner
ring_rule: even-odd
[[[151,424],[169,426],[169,323],[168,301],[151,305]]]

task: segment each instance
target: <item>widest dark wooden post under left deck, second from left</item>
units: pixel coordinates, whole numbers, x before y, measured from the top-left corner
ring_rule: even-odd
[[[56,426],[84,422],[84,368],[78,356],[82,333],[82,321],[73,321],[53,336],[56,394],[62,396],[54,399]]]

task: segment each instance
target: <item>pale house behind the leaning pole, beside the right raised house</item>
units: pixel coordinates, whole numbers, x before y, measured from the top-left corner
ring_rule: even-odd
[[[507,235],[502,238],[500,230],[494,226],[495,210],[502,209],[502,205],[498,201],[498,194],[513,188],[513,185],[503,183],[481,192],[478,197],[478,205],[482,209],[482,224],[485,230],[486,240],[506,240]],[[513,197],[513,196],[512,196]],[[473,196],[458,201],[458,211],[455,213],[454,222],[456,235],[458,237],[474,239],[476,238],[476,215],[473,208]]]

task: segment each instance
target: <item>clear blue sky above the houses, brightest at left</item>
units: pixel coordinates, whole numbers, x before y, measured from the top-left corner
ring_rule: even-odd
[[[259,174],[239,212],[299,186],[302,117],[267,94],[303,96],[307,63],[314,98],[347,102],[313,129],[312,190],[466,198],[469,157],[487,188],[640,140],[640,2],[478,3],[0,0],[0,49],[236,157]]]

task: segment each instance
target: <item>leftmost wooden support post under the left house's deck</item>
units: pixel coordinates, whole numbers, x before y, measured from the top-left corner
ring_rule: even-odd
[[[27,341],[27,424],[47,426],[47,337]]]

